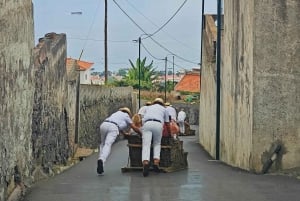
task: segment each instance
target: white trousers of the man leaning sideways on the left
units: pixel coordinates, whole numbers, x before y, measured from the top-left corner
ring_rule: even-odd
[[[99,146],[99,158],[105,163],[111,152],[111,146],[115,142],[116,138],[119,135],[119,129],[116,125],[103,122],[100,125],[100,139],[101,143]]]

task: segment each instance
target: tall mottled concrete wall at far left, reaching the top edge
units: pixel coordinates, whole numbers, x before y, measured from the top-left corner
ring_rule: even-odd
[[[0,201],[31,170],[34,47],[30,0],[0,1]]]

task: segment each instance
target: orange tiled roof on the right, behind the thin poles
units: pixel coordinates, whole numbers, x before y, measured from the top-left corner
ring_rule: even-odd
[[[200,73],[190,72],[184,75],[175,86],[175,91],[200,92]]]

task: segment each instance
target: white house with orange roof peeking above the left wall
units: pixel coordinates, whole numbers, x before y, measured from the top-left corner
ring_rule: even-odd
[[[80,84],[91,84],[91,67],[94,63],[67,58],[67,70],[71,69],[74,64],[76,70],[80,71]]]

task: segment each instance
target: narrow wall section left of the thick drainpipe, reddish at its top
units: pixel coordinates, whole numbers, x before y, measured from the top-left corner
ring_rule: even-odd
[[[205,16],[203,33],[203,61],[201,67],[201,93],[199,109],[199,142],[210,155],[216,147],[216,41],[215,16]]]

